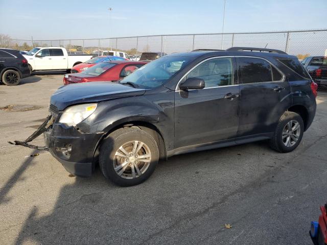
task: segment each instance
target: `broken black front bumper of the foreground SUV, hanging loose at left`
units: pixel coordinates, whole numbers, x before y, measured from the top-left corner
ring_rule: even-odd
[[[43,133],[46,146],[29,144]],[[25,141],[9,142],[31,149],[49,151],[71,174],[89,177],[95,168],[96,145],[102,133],[83,133],[76,127],[66,126],[48,116],[43,124]]]

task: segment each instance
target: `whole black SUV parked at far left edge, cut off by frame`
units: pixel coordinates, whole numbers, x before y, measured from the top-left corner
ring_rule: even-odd
[[[0,48],[0,81],[13,86],[28,76],[31,76],[31,70],[19,50]]]

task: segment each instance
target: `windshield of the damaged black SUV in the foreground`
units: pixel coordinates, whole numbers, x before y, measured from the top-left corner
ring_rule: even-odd
[[[165,84],[189,61],[188,57],[162,57],[138,68],[121,83],[131,82],[139,88],[155,88]]]

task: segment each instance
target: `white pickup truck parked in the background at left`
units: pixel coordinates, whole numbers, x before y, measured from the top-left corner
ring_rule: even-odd
[[[67,70],[92,58],[91,55],[68,55],[63,47],[34,47],[23,55],[31,70]]]

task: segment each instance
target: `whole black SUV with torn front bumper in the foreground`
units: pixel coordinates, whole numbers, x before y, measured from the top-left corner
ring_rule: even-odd
[[[159,159],[258,140],[291,152],[311,125],[317,85],[295,56],[233,47],[172,54],[118,83],[59,88],[49,117],[25,141],[49,150],[70,173],[97,159],[116,184],[136,185]],[[28,142],[44,132],[46,146]]]

